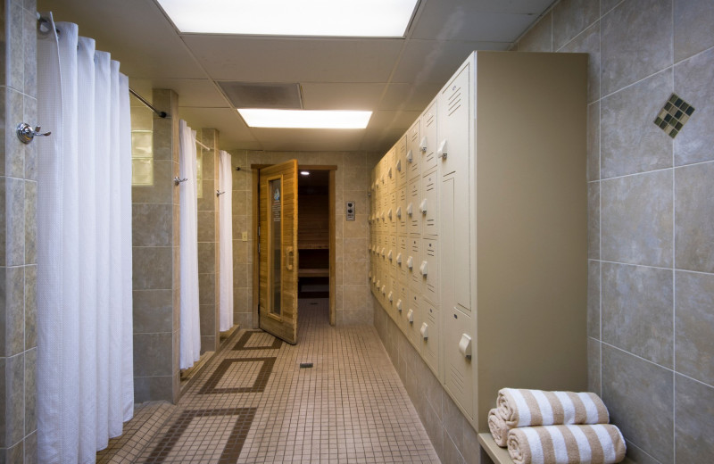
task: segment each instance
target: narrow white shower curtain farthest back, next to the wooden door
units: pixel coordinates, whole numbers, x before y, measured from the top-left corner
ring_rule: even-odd
[[[218,197],[219,222],[219,329],[221,332],[233,327],[233,171],[230,169],[230,154],[219,153]]]

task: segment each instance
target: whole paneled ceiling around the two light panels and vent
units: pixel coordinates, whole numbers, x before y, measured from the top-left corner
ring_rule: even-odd
[[[386,151],[472,50],[506,50],[553,0],[420,0],[405,38],[181,34],[154,0],[37,0],[120,61],[130,85],[179,94],[223,149]],[[201,4],[197,2],[197,4]],[[363,130],[248,128],[217,84],[297,82],[310,110],[371,110]]]

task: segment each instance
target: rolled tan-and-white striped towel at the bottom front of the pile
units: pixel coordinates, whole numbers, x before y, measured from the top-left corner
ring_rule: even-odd
[[[521,427],[508,433],[508,452],[516,464],[614,464],[626,451],[618,427],[610,424]]]

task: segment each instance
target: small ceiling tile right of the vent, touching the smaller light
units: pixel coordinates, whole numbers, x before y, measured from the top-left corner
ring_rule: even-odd
[[[303,87],[305,110],[362,110],[377,109],[385,84],[369,83],[312,83]]]

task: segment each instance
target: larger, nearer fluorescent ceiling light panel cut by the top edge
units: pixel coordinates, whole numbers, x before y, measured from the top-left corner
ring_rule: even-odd
[[[181,32],[403,37],[418,0],[156,0]]]

